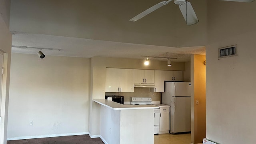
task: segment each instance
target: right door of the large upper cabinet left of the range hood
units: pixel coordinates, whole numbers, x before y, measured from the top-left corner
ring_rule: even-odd
[[[120,92],[134,92],[133,69],[120,69]]]

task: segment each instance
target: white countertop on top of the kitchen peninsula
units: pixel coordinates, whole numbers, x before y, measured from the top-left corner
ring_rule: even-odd
[[[113,110],[134,110],[134,109],[154,109],[158,108],[159,106],[156,105],[124,105],[119,104],[117,102],[112,102],[110,100],[106,99],[97,99],[93,100],[94,102],[97,102],[98,104],[101,104],[103,106],[106,106],[108,108],[111,108]]]

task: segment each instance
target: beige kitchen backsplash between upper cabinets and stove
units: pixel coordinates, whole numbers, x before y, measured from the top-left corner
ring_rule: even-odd
[[[150,92],[150,88],[134,88],[134,92],[106,92],[106,96],[124,96],[124,102],[130,102],[131,97],[151,97],[152,101],[161,102],[160,92]]]

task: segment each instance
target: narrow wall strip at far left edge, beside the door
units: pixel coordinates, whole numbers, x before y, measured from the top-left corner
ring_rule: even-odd
[[[10,82],[10,63],[11,63],[11,44],[12,34],[9,32],[10,1],[0,0],[0,51],[4,53],[4,74],[2,79],[1,94],[1,125],[0,143],[6,144],[7,138],[7,119],[8,119],[8,99]]]

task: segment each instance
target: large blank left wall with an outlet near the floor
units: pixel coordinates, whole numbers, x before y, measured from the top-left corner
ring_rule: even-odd
[[[89,58],[12,53],[10,76],[8,138],[88,132]]]

